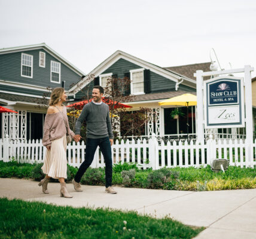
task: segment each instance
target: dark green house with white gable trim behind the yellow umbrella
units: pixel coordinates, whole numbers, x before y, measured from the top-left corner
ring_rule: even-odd
[[[138,59],[135,56],[116,51],[108,57],[99,66],[93,69],[87,76],[74,85],[69,90],[74,95],[75,101],[81,99],[81,89],[93,84],[104,86],[106,79],[115,75],[118,78],[127,76],[130,78],[130,90],[127,94],[134,96],[133,102],[125,102],[126,105],[132,106],[132,111],[140,107],[151,108],[156,114],[156,120],[148,122],[145,128],[145,136],[156,133],[157,136],[187,136],[187,118],[182,117],[173,119],[170,112],[175,106],[159,106],[158,102],[170,97],[179,96],[185,93],[196,94],[196,78],[193,73],[197,70],[209,71],[211,62],[199,63],[185,66],[175,66],[162,68],[153,65],[145,60]],[[92,84],[90,85],[92,90]],[[186,113],[186,109],[183,108]],[[196,107],[190,106],[189,109],[189,133],[196,135]]]

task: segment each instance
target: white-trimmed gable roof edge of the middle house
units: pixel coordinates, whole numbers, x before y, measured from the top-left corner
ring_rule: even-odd
[[[164,68],[161,68],[160,66],[153,65],[149,62],[146,62],[145,60],[141,60],[138,57],[132,56],[130,54],[124,53],[123,51],[115,51],[114,54],[112,54],[108,59],[106,59],[104,62],[102,62],[99,66],[97,66],[93,71],[91,71],[86,77],[81,79],[78,84],[74,85],[71,89],[69,89],[69,93],[76,94],[78,91],[80,91],[81,88],[84,88],[87,84],[90,83],[88,79],[90,78],[90,75],[94,75],[95,77],[99,76],[100,73],[106,71],[111,65],[113,65],[115,62],[117,62],[119,59],[124,59],[129,62],[134,63],[135,65],[141,66],[141,68],[150,69],[150,71],[157,73],[161,76],[164,76],[167,79],[170,79],[171,81],[178,82],[179,79],[184,79],[182,84],[188,85],[189,87],[196,87],[196,81],[192,78],[188,78],[187,76],[181,75],[180,73],[167,70]],[[93,80],[93,79],[92,79]],[[91,80],[91,81],[92,81]]]

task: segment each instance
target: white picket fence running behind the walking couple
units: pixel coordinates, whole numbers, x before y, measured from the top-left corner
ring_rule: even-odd
[[[113,163],[133,162],[142,168],[152,167],[200,167],[211,164],[215,158],[230,160],[231,166],[254,167],[256,140],[252,148],[246,140],[212,140],[206,142],[176,141],[158,142],[156,137],[148,141],[118,140],[112,146]],[[86,145],[84,142],[72,142],[67,146],[67,160],[71,166],[79,167],[84,161]],[[251,151],[252,157],[248,157]],[[42,163],[46,148],[42,140],[28,140],[28,142],[12,141],[8,138],[0,139],[0,160],[9,161],[12,158],[27,163]],[[97,148],[91,167],[104,167],[103,155]]]

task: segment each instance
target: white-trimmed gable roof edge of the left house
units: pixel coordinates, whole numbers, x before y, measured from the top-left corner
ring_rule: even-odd
[[[19,51],[30,51],[30,50],[36,50],[36,49],[44,49],[47,51],[47,53],[54,56],[56,59],[58,59],[60,62],[62,62],[64,65],[68,66],[68,68],[71,68],[72,71],[76,72],[80,76],[86,75],[83,71],[72,65],[68,60],[66,60],[64,57],[60,56],[60,54],[56,53],[53,49],[48,47],[45,43],[35,44],[35,45],[23,45],[21,47],[10,47],[10,48],[1,48],[0,54],[7,54],[7,53],[14,53]]]

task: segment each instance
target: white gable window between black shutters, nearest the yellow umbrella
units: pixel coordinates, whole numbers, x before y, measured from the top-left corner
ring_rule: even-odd
[[[131,94],[144,94],[144,69],[130,71]]]

